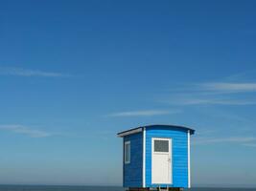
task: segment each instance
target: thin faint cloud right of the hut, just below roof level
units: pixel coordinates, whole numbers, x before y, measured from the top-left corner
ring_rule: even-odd
[[[248,144],[255,141],[254,137],[230,137],[230,138],[198,138],[194,144],[213,144],[213,143],[244,143]]]

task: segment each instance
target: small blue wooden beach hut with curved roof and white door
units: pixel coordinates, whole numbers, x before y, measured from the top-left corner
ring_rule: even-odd
[[[118,133],[123,138],[123,186],[130,190],[190,188],[190,137],[195,130],[147,125]]]

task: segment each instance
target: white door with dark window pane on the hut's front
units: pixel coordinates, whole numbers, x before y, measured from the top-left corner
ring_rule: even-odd
[[[173,183],[172,139],[152,138],[151,183]]]

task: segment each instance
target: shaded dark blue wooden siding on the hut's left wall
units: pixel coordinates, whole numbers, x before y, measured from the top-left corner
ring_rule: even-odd
[[[124,165],[124,187],[142,187],[143,134],[132,134],[124,138],[130,141],[130,162]],[[125,150],[125,149],[124,149]]]

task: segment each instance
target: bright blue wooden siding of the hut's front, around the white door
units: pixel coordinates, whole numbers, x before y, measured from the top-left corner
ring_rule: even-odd
[[[146,187],[156,187],[151,184],[151,138],[173,139],[173,184],[170,187],[188,187],[188,135],[180,129],[153,126],[146,129]],[[167,186],[161,184],[160,186]]]

